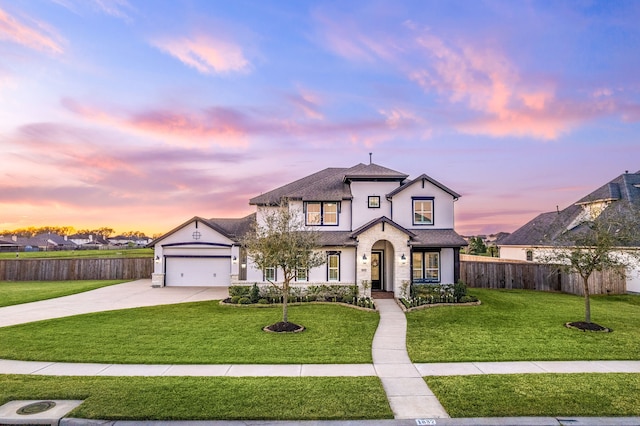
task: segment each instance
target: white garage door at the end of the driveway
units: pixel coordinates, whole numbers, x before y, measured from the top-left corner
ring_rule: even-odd
[[[231,260],[226,257],[167,257],[167,286],[219,287],[231,284]]]

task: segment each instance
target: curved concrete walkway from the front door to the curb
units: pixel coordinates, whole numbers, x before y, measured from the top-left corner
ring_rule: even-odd
[[[448,418],[407,353],[407,319],[394,299],[376,299],[380,323],[373,337],[373,365],[396,419]]]

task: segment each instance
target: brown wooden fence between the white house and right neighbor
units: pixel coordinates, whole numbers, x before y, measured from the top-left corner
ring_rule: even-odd
[[[460,280],[469,287],[562,291],[584,295],[582,277],[563,272],[556,265],[522,262],[460,261]],[[624,294],[624,273],[595,271],[589,277],[591,294]]]

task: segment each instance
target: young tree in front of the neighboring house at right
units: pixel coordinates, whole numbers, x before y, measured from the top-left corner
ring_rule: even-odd
[[[559,264],[582,278],[585,322],[591,323],[589,277],[594,271],[624,273],[631,262],[640,262],[640,208],[627,201],[615,201],[582,216],[571,229],[555,224],[549,246],[536,253],[536,260]]]

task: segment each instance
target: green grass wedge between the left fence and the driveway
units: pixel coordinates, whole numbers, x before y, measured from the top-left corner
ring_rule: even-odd
[[[0,307],[53,299],[125,281],[0,281]]]

